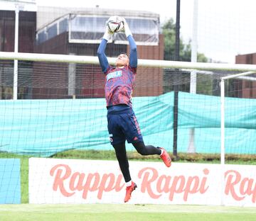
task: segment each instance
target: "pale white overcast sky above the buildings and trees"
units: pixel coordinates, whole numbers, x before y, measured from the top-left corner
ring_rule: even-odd
[[[181,38],[193,31],[193,0],[181,1]],[[176,20],[176,0],[36,0],[38,6],[120,8],[159,13]],[[256,0],[198,0],[198,52],[215,62],[235,63],[235,55],[256,52]]]

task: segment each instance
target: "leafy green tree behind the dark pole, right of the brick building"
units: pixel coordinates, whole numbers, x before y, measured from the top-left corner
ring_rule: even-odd
[[[174,19],[170,18],[162,26],[164,35],[164,60],[174,60],[175,54],[175,27]],[[183,62],[191,62],[191,40],[188,44],[184,44],[180,39],[180,60]],[[208,58],[202,53],[198,53],[198,62],[208,62]]]

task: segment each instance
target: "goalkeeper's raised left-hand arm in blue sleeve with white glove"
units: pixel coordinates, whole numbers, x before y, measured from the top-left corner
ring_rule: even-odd
[[[102,72],[104,73],[107,72],[107,68],[110,67],[109,62],[107,61],[107,56],[105,55],[105,48],[107,45],[107,41],[110,40],[112,35],[113,33],[110,32],[110,30],[106,26],[105,33],[97,50],[97,57],[99,58],[100,66],[102,67]]]

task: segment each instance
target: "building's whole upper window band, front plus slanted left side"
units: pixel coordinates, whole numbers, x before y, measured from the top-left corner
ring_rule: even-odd
[[[54,21],[46,28],[38,31],[38,44],[69,31],[69,42],[100,43],[105,32],[105,23],[110,16],[85,16],[71,14]],[[158,45],[159,18],[126,18],[137,45]],[[70,27],[69,27],[70,26]],[[124,33],[113,36],[114,44],[128,45]]]

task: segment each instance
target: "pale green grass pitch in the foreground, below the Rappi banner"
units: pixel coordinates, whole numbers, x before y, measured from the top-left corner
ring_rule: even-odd
[[[201,205],[1,205],[1,221],[253,221],[255,208]]]

